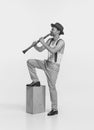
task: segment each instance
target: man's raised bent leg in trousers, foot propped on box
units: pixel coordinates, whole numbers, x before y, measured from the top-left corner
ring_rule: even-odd
[[[45,69],[44,61],[37,60],[37,59],[29,59],[29,60],[27,60],[27,66],[28,66],[29,74],[30,74],[32,81],[34,81],[34,82],[39,81],[35,68],[44,70]]]

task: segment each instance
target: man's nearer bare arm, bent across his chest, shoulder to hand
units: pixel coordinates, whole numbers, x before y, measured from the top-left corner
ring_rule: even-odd
[[[58,51],[64,46],[64,44],[65,44],[63,40],[59,40],[59,41],[58,41],[58,44],[57,44],[54,48],[51,48],[49,45],[47,45],[47,44],[45,43],[45,41],[44,41],[43,38],[40,38],[40,42],[41,42],[41,44],[44,45],[45,48],[46,48],[48,51],[50,51],[51,53],[56,53],[56,52],[58,52]]]

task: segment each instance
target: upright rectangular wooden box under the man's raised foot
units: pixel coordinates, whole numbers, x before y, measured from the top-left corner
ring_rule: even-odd
[[[39,87],[26,87],[26,112],[31,114],[45,112],[45,89],[44,85]]]

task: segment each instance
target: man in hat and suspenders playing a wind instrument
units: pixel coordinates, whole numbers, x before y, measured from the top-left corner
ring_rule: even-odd
[[[60,62],[65,48],[65,42],[60,39],[60,35],[64,35],[64,28],[60,23],[51,24],[51,36],[46,42],[43,37],[39,39],[42,44],[41,47],[35,45],[34,48],[42,52],[43,50],[48,50],[47,60],[29,59],[27,60],[27,66],[32,79],[32,83],[27,84],[27,86],[40,86],[40,81],[36,74],[35,68],[44,70],[47,82],[49,86],[50,99],[51,99],[51,111],[47,114],[48,116],[58,114],[57,108],[57,91],[56,91],[56,79],[60,69]]]

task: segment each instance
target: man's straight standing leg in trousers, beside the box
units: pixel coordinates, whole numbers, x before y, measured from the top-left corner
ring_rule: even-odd
[[[59,72],[59,66],[48,63],[47,65],[47,81],[50,91],[50,99],[51,99],[51,108],[57,110],[57,90],[56,90],[56,80]]]

